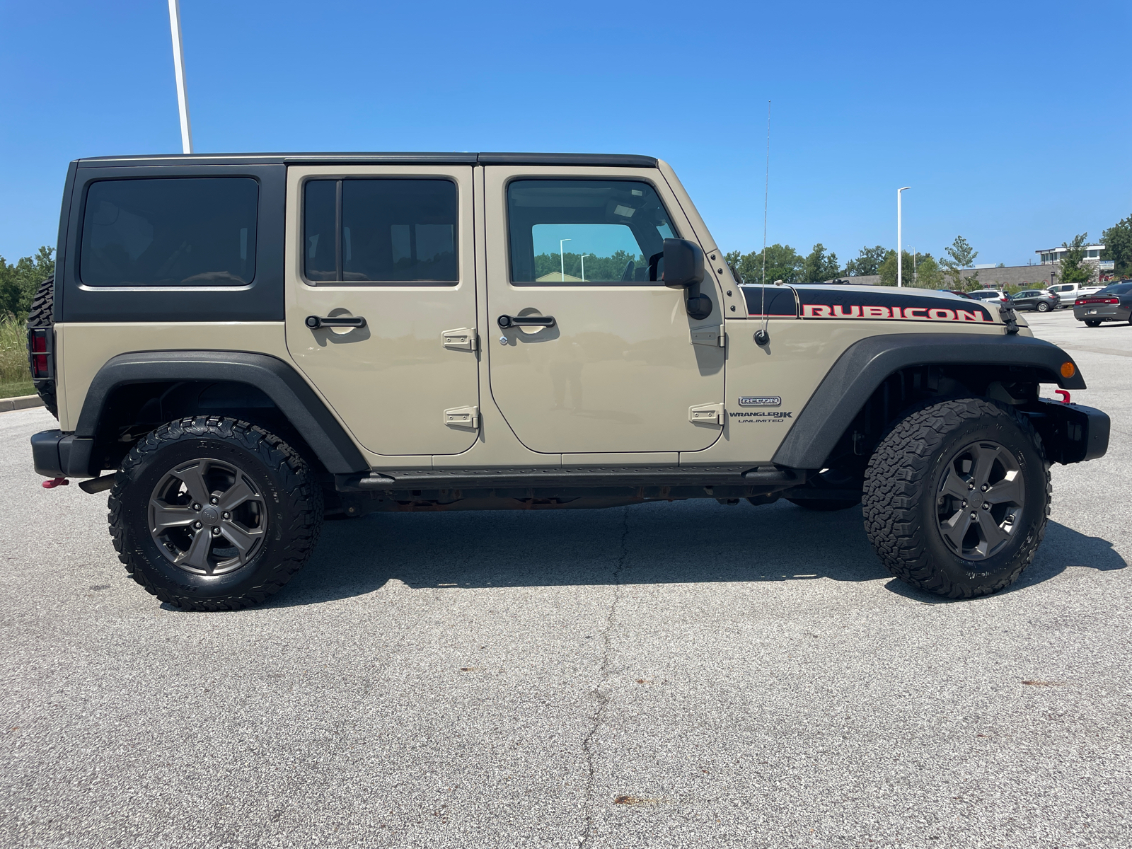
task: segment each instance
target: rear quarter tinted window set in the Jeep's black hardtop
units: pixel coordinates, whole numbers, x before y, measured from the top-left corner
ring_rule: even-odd
[[[79,277],[89,286],[250,283],[258,203],[248,177],[93,182]]]

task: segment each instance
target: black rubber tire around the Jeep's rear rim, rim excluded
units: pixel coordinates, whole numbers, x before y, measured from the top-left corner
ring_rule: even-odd
[[[178,464],[206,457],[247,474],[267,505],[258,551],[221,575],[179,568],[149,533],[154,487]],[[126,571],[161,601],[191,610],[238,610],[277,592],[307,561],[323,522],[321,490],[295,451],[263,428],[214,415],[162,424],[136,443],[115,475],[109,507],[110,535]]]

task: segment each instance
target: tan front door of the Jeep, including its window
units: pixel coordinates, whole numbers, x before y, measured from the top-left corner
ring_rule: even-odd
[[[700,451],[721,426],[719,298],[692,319],[655,276],[666,237],[695,239],[659,171],[484,169],[491,396],[547,453]],[[500,316],[554,318],[501,328]],[[509,319],[505,319],[505,323]],[[694,412],[700,408],[698,412]]]

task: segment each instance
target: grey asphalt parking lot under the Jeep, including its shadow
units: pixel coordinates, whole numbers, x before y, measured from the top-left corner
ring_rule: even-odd
[[[1112,441],[976,601],[859,509],[694,501],[328,523],[271,602],[182,612],[0,414],[0,842],[1132,844],[1132,326],[1027,319]]]

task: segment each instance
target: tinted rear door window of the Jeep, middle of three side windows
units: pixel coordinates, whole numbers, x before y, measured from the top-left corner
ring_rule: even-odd
[[[457,283],[460,194],[451,180],[308,180],[307,280]]]

